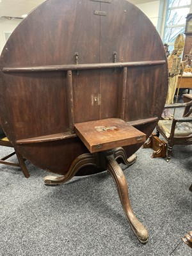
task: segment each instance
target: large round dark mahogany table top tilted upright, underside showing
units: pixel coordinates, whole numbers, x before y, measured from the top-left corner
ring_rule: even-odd
[[[49,0],[20,22],[1,54],[1,125],[23,157],[65,174],[88,152],[75,124],[120,118],[148,137],[167,88],[163,44],[136,6]],[[125,146],[127,157],[142,143]]]

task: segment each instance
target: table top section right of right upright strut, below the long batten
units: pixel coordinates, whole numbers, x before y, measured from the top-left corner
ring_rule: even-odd
[[[125,100],[125,120],[160,118],[168,83],[164,67],[129,68]]]

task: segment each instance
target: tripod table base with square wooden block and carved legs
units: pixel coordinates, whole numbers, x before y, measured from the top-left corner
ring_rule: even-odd
[[[45,177],[45,184],[56,185],[66,182],[74,177],[80,168],[86,165],[93,165],[108,170],[115,181],[122,206],[132,230],[141,243],[147,243],[147,229],[132,212],[125,175],[116,159],[122,157],[125,164],[130,165],[131,163],[127,161],[123,148],[115,148],[120,145],[136,144],[138,141],[143,142],[146,139],[145,134],[118,118],[75,124],[75,131],[84,145],[90,150],[90,153],[77,157],[72,166],[70,166],[67,175],[62,177]]]

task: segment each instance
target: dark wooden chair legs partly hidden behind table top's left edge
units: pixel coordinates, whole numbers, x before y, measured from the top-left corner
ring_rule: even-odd
[[[12,143],[8,140],[8,138],[4,134],[1,127],[0,127],[0,146],[14,148]],[[13,163],[11,161],[7,161],[7,159],[14,156],[15,154],[17,156],[18,163]],[[24,163],[24,158],[19,154],[19,152],[17,152],[17,150],[15,150],[15,148],[14,148],[14,151],[12,153],[10,153],[7,156],[4,156],[0,159],[0,164],[8,164],[8,165],[12,165],[12,166],[19,166],[26,178],[29,178],[29,176],[30,176],[29,172],[28,172],[28,169],[26,168],[26,164]]]

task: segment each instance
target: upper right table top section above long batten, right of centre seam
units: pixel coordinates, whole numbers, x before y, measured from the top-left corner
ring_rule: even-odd
[[[100,10],[107,12],[100,17],[100,61],[166,60],[161,38],[154,25],[140,9],[123,1],[101,3]]]

